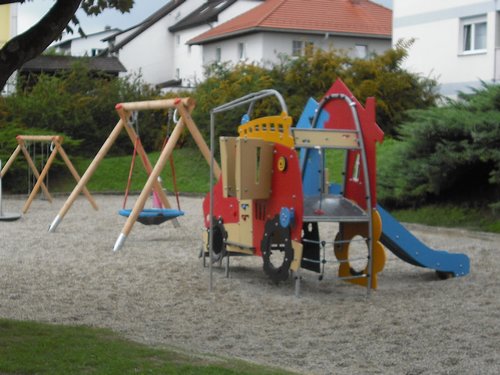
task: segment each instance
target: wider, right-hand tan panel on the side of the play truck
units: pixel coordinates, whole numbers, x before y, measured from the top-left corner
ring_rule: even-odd
[[[267,199],[271,195],[272,143],[261,139],[236,141],[236,196],[238,199]]]

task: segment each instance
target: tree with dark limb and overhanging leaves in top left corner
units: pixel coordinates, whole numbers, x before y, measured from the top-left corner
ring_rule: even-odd
[[[24,3],[26,0],[0,0],[0,5]],[[28,0],[36,1],[36,0]],[[54,40],[72,25],[79,27],[75,13],[81,7],[89,15],[98,15],[104,9],[115,8],[128,12],[134,0],[56,0],[52,8],[29,30],[9,40],[0,50],[0,90],[9,77],[25,62],[40,55]]]

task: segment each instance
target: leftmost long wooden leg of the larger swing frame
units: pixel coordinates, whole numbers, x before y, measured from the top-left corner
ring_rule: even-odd
[[[101,146],[101,149],[99,152],[96,154],[94,160],[92,160],[92,163],[90,163],[89,167],[83,174],[82,178],[80,181],[76,184],[74,187],[73,191],[71,192],[70,196],[62,206],[61,210],[57,214],[57,216],[54,218],[52,223],[50,224],[49,227],[49,232],[54,232],[59,225],[59,223],[62,221],[68,210],[71,208],[73,205],[73,202],[76,200],[78,195],[81,193],[85,185],[87,185],[87,182],[90,180],[90,177],[94,174],[95,170],[97,169],[99,163],[101,160],[106,156],[108,153],[109,149],[113,145],[113,143],[116,141],[116,138],[120,135],[120,132],[123,129],[123,120],[119,120],[118,123],[115,125],[113,131],[109,135],[108,139],[104,142],[104,144]]]

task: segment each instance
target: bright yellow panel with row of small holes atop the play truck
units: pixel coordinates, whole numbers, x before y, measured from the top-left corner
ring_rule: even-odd
[[[243,138],[259,138],[265,141],[293,147],[290,131],[292,118],[282,113],[279,116],[260,117],[240,125],[238,133]]]

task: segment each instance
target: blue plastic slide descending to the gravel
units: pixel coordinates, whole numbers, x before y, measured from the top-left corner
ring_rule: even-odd
[[[434,269],[443,278],[469,273],[467,255],[433,250],[419,241],[380,205],[377,205],[377,210],[382,218],[380,242],[397,257],[415,266]]]

